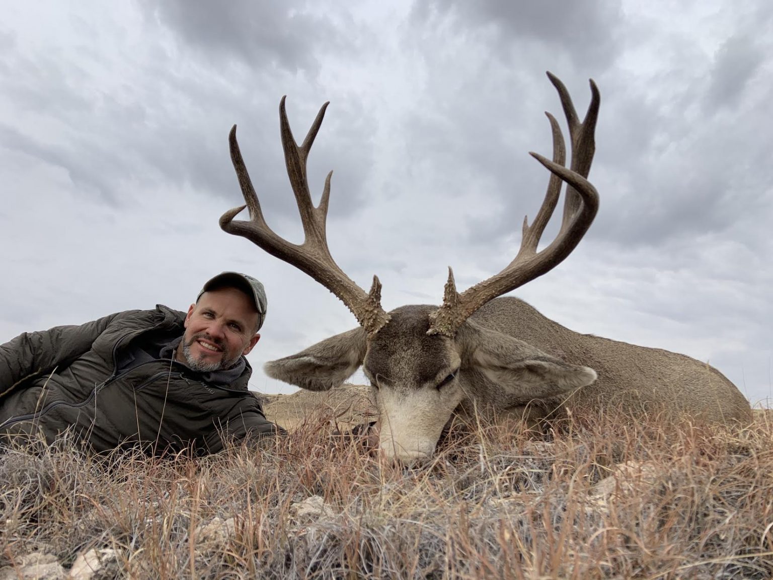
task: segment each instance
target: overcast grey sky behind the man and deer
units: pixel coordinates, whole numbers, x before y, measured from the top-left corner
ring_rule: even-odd
[[[773,396],[773,3],[2,2],[0,342],[162,303],[203,281],[264,281],[250,362],[356,326],[325,288],[241,237],[227,136],[268,223],[301,242],[278,130],[333,169],[329,245],[383,305],[438,304],[516,254],[548,174],[545,71],[584,113],[601,90],[591,181],[601,210],[577,250],[513,292],[581,333],[708,361]],[[557,212],[557,213],[560,213]],[[246,219],[246,217],[244,218]],[[546,237],[555,229],[549,229]]]

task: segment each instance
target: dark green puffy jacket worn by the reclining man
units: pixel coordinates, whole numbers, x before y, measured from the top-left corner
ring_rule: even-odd
[[[226,385],[207,383],[170,359],[117,371],[130,342],[182,336],[184,319],[183,312],[158,305],[3,344],[0,438],[42,432],[53,442],[69,430],[97,452],[141,444],[203,455],[219,452],[226,441],[252,443],[281,432],[247,390],[249,363]]]

